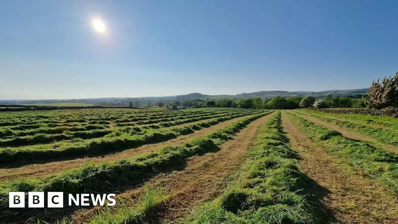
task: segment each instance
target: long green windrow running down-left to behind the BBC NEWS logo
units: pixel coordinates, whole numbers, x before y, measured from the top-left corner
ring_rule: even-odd
[[[192,139],[180,146],[167,146],[156,153],[147,153],[113,162],[90,164],[82,168],[71,169],[57,175],[39,179],[7,181],[0,184],[0,205],[8,206],[10,191],[62,191],[64,193],[106,193],[120,190],[125,185],[141,183],[144,179],[171,169],[181,167],[187,158],[216,150],[232,135],[240,132],[252,121],[270,112],[243,118],[202,138]],[[13,211],[14,212],[14,211]]]

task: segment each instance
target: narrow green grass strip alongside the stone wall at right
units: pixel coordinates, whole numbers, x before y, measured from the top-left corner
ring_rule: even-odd
[[[393,117],[372,116],[372,115],[363,115],[363,114],[333,114],[333,113],[320,112],[316,110],[298,110],[298,111],[306,112],[308,114],[316,114],[318,116],[345,118],[348,120],[355,120],[356,122],[363,124],[375,124],[387,128],[398,128],[398,119]]]

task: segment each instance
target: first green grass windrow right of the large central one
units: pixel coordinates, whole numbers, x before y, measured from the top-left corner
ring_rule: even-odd
[[[398,195],[398,155],[363,141],[345,138],[339,132],[316,126],[295,114],[289,114],[289,117],[312,141],[361,169],[368,177],[376,179]]]

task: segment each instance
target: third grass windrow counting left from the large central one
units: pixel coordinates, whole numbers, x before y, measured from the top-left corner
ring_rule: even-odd
[[[217,113],[217,114],[212,114],[208,116],[195,116],[192,118],[188,119],[183,119],[183,120],[176,120],[174,122],[161,122],[158,125],[151,125],[151,126],[142,126],[141,128],[161,128],[161,127],[170,127],[170,126],[175,126],[179,124],[186,124],[190,122],[196,122],[200,120],[206,120],[210,118],[219,118],[223,116],[234,116],[236,114],[250,114],[253,112],[235,112],[235,113]],[[126,124],[126,123],[124,123]],[[128,123],[127,123],[128,124]],[[131,124],[130,126],[133,126],[135,124]],[[65,133],[62,134],[44,134],[44,133],[39,133],[39,134],[34,134],[33,136],[25,136],[23,137],[16,137],[16,138],[9,138],[5,140],[0,140],[0,147],[11,147],[11,146],[23,146],[23,145],[35,145],[35,144],[45,144],[45,143],[51,143],[53,141],[62,141],[62,140],[71,140],[74,138],[81,138],[81,139],[90,139],[90,138],[100,138],[103,137],[107,134],[110,133],[115,133],[115,132],[123,132],[126,129],[115,129],[115,128],[109,128],[106,130],[101,130],[104,129],[104,126],[85,126],[88,127],[87,129],[90,131],[66,131]],[[94,130],[95,127],[98,127],[98,130]],[[109,126],[107,126],[109,127]],[[80,128],[83,129],[84,127]],[[72,128],[72,130],[79,130],[77,128]],[[43,129],[42,129],[43,130]],[[68,130],[65,128],[65,130]],[[39,132],[39,130],[34,130],[34,132]],[[53,131],[59,131],[59,129],[46,129],[45,131],[47,132],[53,132]],[[129,131],[129,130],[128,130]],[[140,128],[135,128],[136,132],[140,132]],[[29,134],[31,132],[28,132]],[[0,132],[1,134],[1,132]],[[20,133],[21,134],[21,133]],[[23,134],[23,133],[22,133]]]

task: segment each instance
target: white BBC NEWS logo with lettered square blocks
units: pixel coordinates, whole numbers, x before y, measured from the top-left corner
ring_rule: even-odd
[[[68,194],[68,206],[103,206],[106,200],[107,206],[114,206],[115,196],[115,194]],[[44,208],[44,192],[28,192],[27,202],[28,208]],[[47,208],[63,208],[64,202],[63,192],[47,192]],[[25,208],[25,192],[10,192],[8,207]]]

